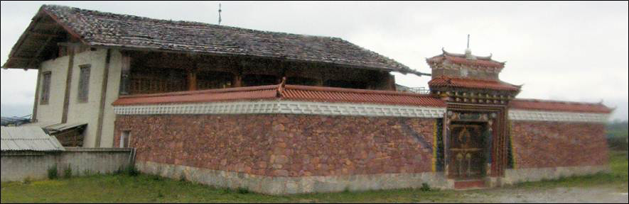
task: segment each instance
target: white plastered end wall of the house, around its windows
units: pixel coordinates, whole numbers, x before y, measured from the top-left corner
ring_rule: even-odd
[[[107,82],[107,96],[103,113],[103,129],[100,147],[112,147],[114,138],[115,114],[111,104],[118,98],[120,72],[122,67],[122,55],[118,50],[112,50],[109,61],[109,76]],[[87,123],[83,147],[95,147],[98,114],[102,96],[102,79],[107,59],[107,49],[99,48],[95,51],[80,52],[75,55],[72,65],[72,81],[70,83],[70,100],[68,105],[68,123]],[[39,105],[38,100],[37,119],[40,123],[61,123],[63,115],[63,100],[65,96],[65,79],[68,76],[69,56],[59,57],[55,60],[42,62],[41,71],[52,73],[50,79],[50,99],[48,105]],[[90,87],[87,102],[78,101],[78,86],[80,78],[80,66],[90,64]],[[43,80],[41,77],[40,80]],[[40,94],[43,83],[40,81]],[[41,98],[41,96],[40,96]]]

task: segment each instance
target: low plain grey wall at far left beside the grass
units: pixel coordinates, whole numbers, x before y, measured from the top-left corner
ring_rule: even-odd
[[[55,164],[60,176],[68,166],[73,176],[82,176],[112,173],[131,162],[128,148],[65,149],[64,152],[2,152],[1,182],[47,179],[48,169]]]

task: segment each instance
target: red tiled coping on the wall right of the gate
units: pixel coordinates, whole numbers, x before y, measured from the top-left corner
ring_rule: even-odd
[[[547,101],[539,99],[516,98],[509,103],[509,108],[539,110],[539,111],[566,111],[586,113],[611,113],[611,108],[601,103],[579,103],[570,101]]]

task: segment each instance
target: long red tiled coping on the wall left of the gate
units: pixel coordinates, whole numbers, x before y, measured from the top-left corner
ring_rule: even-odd
[[[409,106],[445,107],[439,98],[426,94],[398,91],[340,89],[318,86],[272,85],[205,91],[184,91],[170,94],[122,96],[113,106],[155,103],[200,103],[215,101],[291,100],[335,103],[381,103]]]

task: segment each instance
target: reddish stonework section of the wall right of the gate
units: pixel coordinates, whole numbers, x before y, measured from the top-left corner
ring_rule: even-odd
[[[512,120],[515,169],[608,163],[603,123]]]

